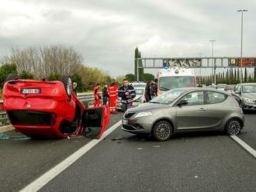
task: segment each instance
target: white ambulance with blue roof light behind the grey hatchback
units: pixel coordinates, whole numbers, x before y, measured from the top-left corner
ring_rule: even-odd
[[[157,74],[158,94],[180,87],[196,87],[195,71],[191,68],[169,67]]]

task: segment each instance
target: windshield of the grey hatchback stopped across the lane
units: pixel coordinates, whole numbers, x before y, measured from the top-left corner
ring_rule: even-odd
[[[183,90],[167,91],[159,95],[157,98],[152,99],[150,103],[171,104],[173,101],[175,101],[176,98],[178,98],[184,92],[185,91]]]

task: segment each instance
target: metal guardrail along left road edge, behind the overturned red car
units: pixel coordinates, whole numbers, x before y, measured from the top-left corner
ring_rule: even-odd
[[[78,94],[78,98],[81,101],[88,101],[88,105],[92,105],[94,101],[94,97],[92,93],[88,94]],[[2,100],[0,100],[0,105],[2,106]],[[8,125],[9,124],[9,118],[7,116],[6,111],[2,111],[0,108],[0,126],[2,125]]]

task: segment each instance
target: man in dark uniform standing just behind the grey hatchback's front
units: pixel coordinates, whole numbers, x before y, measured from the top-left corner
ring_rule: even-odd
[[[122,98],[123,111],[126,111],[133,105],[133,98],[136,97],[134,87],[129,84],[127,79],[123,80],[123,86],[119,87],[119,98]]]

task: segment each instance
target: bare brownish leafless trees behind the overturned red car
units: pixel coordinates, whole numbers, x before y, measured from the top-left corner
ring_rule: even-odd
[[[71,46],[39,46],[20,50],[12,48],[2,63],[16,63],[18,72],[23,70],[34,74],[37,79],[50,74],[71,74],[81,66],[83,58]]]

